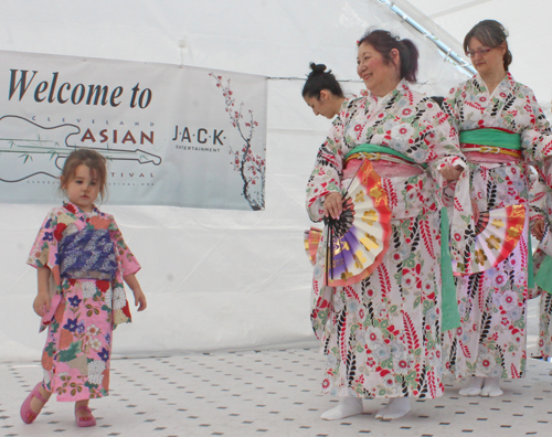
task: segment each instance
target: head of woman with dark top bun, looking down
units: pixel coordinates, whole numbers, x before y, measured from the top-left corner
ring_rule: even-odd
[[[302,98],[316,116],[321,115],[332,119],[339,114],[346,100],[341,85],[331,70],[326,71],[326,65],[311,62],[310,70],[302,87]]]

